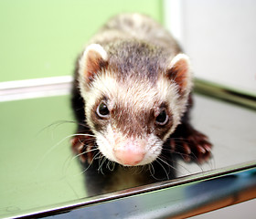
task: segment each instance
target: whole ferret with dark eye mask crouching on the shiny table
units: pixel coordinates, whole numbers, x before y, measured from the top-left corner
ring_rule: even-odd
[[[191,89],[189,58],[162,26],[138,14],[112,18],[78,60],[73,150],[86,161],[96,146],[126,166],[154,162],[164,145],[186,160],[208,159],[207,137],[188,124]]]

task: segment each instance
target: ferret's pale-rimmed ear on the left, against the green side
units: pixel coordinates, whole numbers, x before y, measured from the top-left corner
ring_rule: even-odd
[[[91,44],[86,47],[80,57],[80,76],[90,83],[94,76],[107,65],[108,55],[103,47],[99,44]]]

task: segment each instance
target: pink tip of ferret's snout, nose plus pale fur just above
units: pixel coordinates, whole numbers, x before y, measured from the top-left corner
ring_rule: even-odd
[[[120,145],[115,145],[113,155],[116,160],[124,166],[134,166],[144,160],[144,145],[137,142],[124,142]]]

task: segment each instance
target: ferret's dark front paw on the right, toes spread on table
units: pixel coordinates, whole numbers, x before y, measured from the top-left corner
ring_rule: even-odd
[[[173,152],[179,153],[186,162],[207,162],[211,156],[212,144],[208,137],[197,130],[190,130],[187,136],[170,140]]]

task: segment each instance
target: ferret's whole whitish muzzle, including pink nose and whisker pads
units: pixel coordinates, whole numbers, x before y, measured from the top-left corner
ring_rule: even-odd
[[[154,162],[162,151],[163,141],[150,134],[147,138],[127,138],[122,133],[98,133],[96,143],[108,160],[123,166],[141,166]],[[111,138],[109,136],[112,136]]]

